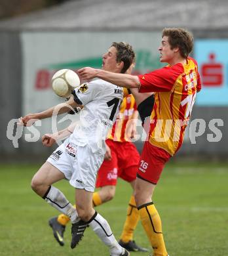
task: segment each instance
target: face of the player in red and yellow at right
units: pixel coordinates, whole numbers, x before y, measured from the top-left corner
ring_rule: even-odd
[[[162,37],[161,46],[159,47],[160,62],[172,63],[176,49],[171,49],[168,43],[168,37]]]

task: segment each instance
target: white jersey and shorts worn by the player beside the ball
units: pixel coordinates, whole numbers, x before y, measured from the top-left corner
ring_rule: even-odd
[[[104,160],[105,138],[117,117],[123,89],[98,79],[75,89],[73,98],[78,106],[84,106],[80,120],[47,161],[62,171],[74,188],[94,192],[96,173]]]

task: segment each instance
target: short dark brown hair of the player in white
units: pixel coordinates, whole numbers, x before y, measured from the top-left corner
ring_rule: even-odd
[[[117,49],[117,62],[123,61],[124,66],[121,70],[121,73],[124,74],[126,70],[130,67],[130,65],[135,61],[136,54],[132,48],[132,45],[125,42],[113,42],[111,47],[115,47]]]

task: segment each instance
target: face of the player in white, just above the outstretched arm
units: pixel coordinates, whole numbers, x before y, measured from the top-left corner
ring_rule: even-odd
[[[119,72],[119,65],[117,63],[117,49],[115,47],[110,47],[107,50],[107,53],[103,54],[102,61],[102,70]]]

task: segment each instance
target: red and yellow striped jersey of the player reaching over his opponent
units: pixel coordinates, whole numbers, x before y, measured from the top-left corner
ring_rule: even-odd
[[[188,57],[186,64],[168,65],[138,77],[140,93],[155,92],[149,142],[173,156],[183,142],[196,93],[201,89],[197,62]]]

